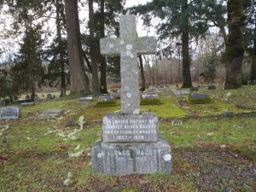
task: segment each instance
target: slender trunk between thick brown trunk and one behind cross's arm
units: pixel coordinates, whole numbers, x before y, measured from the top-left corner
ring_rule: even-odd
[[[98,65],[96,61],[96,39],[94,37],[95,24],[93,13],[93,0],[89,0],[89,32],[90,32],[90,60],[91,60],[91,76],[92,76],[92,90],[96,93],[100,92]]]

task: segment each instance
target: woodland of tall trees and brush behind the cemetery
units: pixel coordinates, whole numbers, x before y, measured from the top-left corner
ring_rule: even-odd
[[[107,93],[119,83],[119,57],[103,57],[99,41],[119,37],[121,14],[137,15],[158,39],[156,54],[137,60],[142,90],[205,81],[236,89],[256,79],[253,0],[153,0],[128,9],[119,0],[2,0],[0,11],[3,98],[44,88]]]

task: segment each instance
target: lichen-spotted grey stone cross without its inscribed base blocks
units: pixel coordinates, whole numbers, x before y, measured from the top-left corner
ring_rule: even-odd
[[[102,55],[120,56],[121,113],[140,113],[137,55],[154,54],[156,39],[137,37],[135,15],[120,15],[119,38],[102,38]]]

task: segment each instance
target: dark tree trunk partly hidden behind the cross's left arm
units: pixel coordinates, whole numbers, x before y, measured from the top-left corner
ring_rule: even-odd
[[[104,12],[104,5],[105,5],[105,1],[101,0],[101,38],[105,38],[105,12]],[[101,93],[108,93],[108,87],[107,87],[107,72],[106,72],[106,68],[107,68],[107,63],[105,60],[105,57],[103,57],[101,55],[101,53],[99,53],[100,57],[101,57]]]

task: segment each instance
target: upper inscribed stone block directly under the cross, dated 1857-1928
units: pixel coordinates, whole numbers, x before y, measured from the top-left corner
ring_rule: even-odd
[[[157,142],[158,118],[154,113],[141,115],[108,114],[103,118],[103,142]]]

